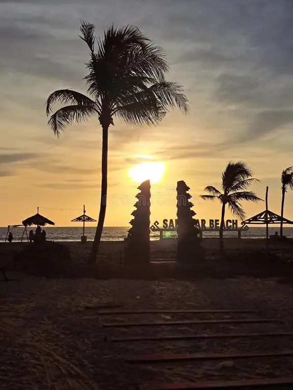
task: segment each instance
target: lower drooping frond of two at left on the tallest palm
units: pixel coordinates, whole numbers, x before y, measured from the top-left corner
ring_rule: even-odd
[[[59,137],[60,132],[64,131],[69,124],[80,123],[96,114],[96,109],[91,106],[73,105],[62,107],[51,115],[48,125],[51,127],[55,136]]]

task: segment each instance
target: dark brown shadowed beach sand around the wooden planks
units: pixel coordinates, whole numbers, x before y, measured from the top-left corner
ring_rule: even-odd
[[[251,243],[248,243],[251,241]],[[209,253],[217,240],[203,240]],[[22,244],[0,245],[4,263]],[[156,247],[157,245],[157,247]],[[153,258],[175,246],[152,243]],[[261,240],[228,240],[228,251],[264,247]],[[90,243],[68,243],[77,263],[85,262]],[[119,262],[123,242],[103,242],[102,263]],[[277,250],[277,248],[275,248]],[[280,248],[278,249],[280,250]],[[291,249],[284,249],[289,252]],[[249,253],[249,252],[248,252]],[[119,264],[119,263],[116,263]],[[98,268],[98,267],[97,267]],[[14,275],[14,273],[11,273]],[[94,274],[94,273],[93,273]],[[105,336],[198,333],[266,333],[293,329],[292,283],[276,278],[201,278],[200,280],[45,279],[17,275],[0,283],[0,383],[5,389],[128,389],[152,381],[199,381],[288,376],[292,359],[263,358],[128,365],[123,357],[150,353],[263,351],[293,349],[293,338],[187,340],[113,343]],[[100,316],[97,308],[247,309],[245,314],[156,314]],[[278,318],[281,323],[204,324],[178,327],[102,328],[103,321],[154,319]]]

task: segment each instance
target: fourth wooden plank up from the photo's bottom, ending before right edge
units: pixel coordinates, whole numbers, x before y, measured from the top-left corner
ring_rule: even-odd
[[[155,321],[155,322],[110,322],[102,323],[105,328],[128,328],[128,327],[155,327],[184,324],[201,324],[201,323],[257,323],[257,322],[281,322],[278,319],[203,319],[203,320],[183,320],[183,321]]]

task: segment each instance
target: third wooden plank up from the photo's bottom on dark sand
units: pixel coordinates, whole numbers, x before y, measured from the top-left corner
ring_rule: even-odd
[[[109,341],[164,341],[164,340],[193,340],[193,339],[224,339],[224,338],[243,338],[243,337],[280,337],[291,336],[293,333],[289,332],[276,332],[276,333],[211,333],[208,335],[170,335],[170,336],[135,336],[135,337],[113,337],[109,338]]]

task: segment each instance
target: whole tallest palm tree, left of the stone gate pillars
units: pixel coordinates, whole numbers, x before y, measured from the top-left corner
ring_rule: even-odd
[[[114,124],[113,117],[132,125],[156,125],[169,108],[178,107],[187,113],[189,105],[182,86],[165,80],[168,64],[164,51],[137,27],[112,25],[104,31],[103,39],[96,39],[94,25],[82,21],[80,31],[80,38],[90,50],[87,95],[71,89],[57,90],[48,97],[47,115],[52,114],[55,102],[66,105],[48,122],[57,137],[67,125],[93,115],[102,127],[100,214],[90,255],[90,262],[95,263],[106,213],[108,129]]]

